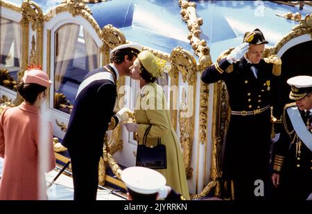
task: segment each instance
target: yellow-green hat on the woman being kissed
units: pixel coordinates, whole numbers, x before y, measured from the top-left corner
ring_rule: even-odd
[[[166,61],[155,57],[155,55],[148,50],[140,52],[137,58],[150,75],[153,77],[160,77],[160,75],[162,75],[162,68],[164,64],[166,64]]]

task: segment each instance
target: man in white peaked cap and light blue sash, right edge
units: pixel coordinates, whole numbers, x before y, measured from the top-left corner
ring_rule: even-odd
[[[277,198],[306,200],[312,193],[312,77],[292,77],[287,83],[295,102],[284,108],[272,182]]]

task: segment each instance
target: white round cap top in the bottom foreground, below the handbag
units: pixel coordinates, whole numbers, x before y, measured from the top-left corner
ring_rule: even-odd
[[[130,190],[141,194],[153,194],[166,185],[164,175],[150,168],[132,166],[125,168],[121,179]]]

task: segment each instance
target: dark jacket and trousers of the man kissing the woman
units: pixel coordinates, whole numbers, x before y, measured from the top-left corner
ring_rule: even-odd
[[[107,65],[114,80],[116,73]],[[92,70],[85,77],[98,77],[105,68]],[[96,76],[94,76],[96,75]],[[103,155],[103,139],[113,115],[116,84],[109,79],[94,78],[76,97],[62,145],[71,157],[74,200],[95,200],[98,186],[98,162]]]

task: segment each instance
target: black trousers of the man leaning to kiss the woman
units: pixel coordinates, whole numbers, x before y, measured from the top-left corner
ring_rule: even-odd
[[[96,200],[101,154],[68,149],[73,173],[73,200]]]

